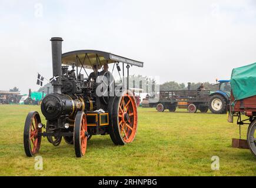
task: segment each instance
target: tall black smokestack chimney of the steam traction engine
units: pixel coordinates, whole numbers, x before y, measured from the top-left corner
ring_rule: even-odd
[[[54,93],[61,94],[61,55],[62,55],[62,38],[53,37],[52,42],[52,73],[53,76],[59,76],[53,81]]]

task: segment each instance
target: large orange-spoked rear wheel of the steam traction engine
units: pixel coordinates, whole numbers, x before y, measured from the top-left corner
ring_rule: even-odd
[[[109,125],[110,135],[116,145],[125,145],[134,140],[137,132],[137,105],[132,92],[125,91],[121,97],[116,96],[112,107],[112,121]]]

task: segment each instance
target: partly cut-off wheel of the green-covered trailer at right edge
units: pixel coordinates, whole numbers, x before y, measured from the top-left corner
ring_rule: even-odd
[[[248,127],[247,142],[251,153],[256,157],[256,119]]]

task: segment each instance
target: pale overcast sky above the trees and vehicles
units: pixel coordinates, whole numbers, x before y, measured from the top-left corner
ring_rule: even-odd
[[[0,90],[28,93],[62,52],[97,49],[144,62],[131,73],[181,82],[229,79],[256,62],[256,1],[0,1]]]

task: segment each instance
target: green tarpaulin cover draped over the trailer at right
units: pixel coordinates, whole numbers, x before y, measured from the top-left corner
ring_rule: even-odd
[[[230,84],[236,100],[256,95],[256,63],[233,69]]]

